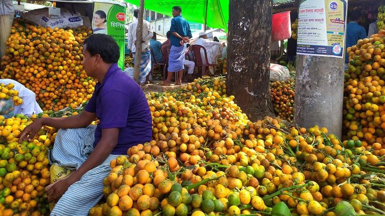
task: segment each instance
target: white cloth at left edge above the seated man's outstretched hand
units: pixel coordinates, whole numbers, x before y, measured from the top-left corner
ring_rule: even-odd
[[[42,108],[36,102],[36,95],[33,91],[27,89],[23,84],[10,80],[8,78],[0,79],[0,83],[5,85],[13,83],[13,89],[18,91],[18,96],[23,100],[21,105],[15,106],[14,114],[23,114],[31,116],[43,112]]]

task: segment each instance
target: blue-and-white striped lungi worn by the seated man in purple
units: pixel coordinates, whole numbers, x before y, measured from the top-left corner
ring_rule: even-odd
[[[57,131],[55,144],[50,151],[51,164],[78,169],[93,150],[96,126]],[[50,215],[86,216],[103,197],[103,180],[111,171],[110,161],[119,155],[110,154],[99,166],[86,172],[72,184],[56,203]]]

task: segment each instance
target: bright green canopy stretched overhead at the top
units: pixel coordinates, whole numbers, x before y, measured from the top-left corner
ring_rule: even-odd
[[[133,5],[140,5],[140,0],[124,0]],[[274,4],[285,4],[293,0],[274,0]],[[144,8],[172,16],[172,7],[180,6],[187,21],[202,23],[211,28],[227,31],[229,0],[144,0]],[[207,8],[207,20],[206,20]]]

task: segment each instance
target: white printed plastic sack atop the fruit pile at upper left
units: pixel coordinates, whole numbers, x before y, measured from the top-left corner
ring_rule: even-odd
[[[36,25],[51,27],[51,28],[76,28],[83,26],[82,15],[76,10],[60,9],[61,14],[59,19],[52,19],[48,16],[48,8],[31,10],[22,15],[26,20],[33,22]]]

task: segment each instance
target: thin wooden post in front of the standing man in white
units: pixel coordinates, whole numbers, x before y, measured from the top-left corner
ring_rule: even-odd
[[[133,78],[136,82],[139,82],[140,61],[142,60],[142,37],[143,37],[143,13],[144,13],[144,0],[140,0],[140,8],[138,14],[138,26],[137,26],[137,49],[135,51],[136,57],[133,69]]]

